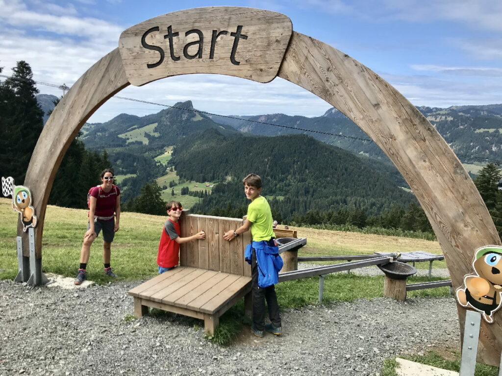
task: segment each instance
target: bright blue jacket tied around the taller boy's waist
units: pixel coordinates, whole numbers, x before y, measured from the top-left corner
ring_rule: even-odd
[[[271,246],[274,241],[262,240],[248,244],[244,253],[244,260],[251,264],[253,248],[256,251],[256,262],[258,264],[258,286],[268,287],[279,282],[279,271],[284,262],[279,256],[279,247]]]

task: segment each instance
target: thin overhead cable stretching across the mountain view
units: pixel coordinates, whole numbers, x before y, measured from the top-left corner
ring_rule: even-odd
[[[63,85],[48,84],[46,82],[35,81],[33,79],[32,80],[28,80],[28,79],[25,79],[25,78],[11,77],[11,76],[3,75],[3,74],[0,74],[0,77],[10,78],[10,79],[14,79],[14,80],[21,80],[21,81],[33,81],[33,82],[35,82],[36,84],[39,84],[39,85],[45,85],[45,86],[50,86],[50,87],[62,89],[63,93],[65,91],[67,91],[67,90],[70,89],[68,86],[66,86],[66,84],[63,84]],[[348,135],[345,135],[345,134],[336,134],[336,133],[330,133],[330,132],[323,132],[323,131],[320,131],[320,130],[312,130],[312,129],[305,129],[305,128],[296,128],[296,127],[291,127],[291,126],[288,126],[288,125],[279,125],[279,124],[274,124],[274,123],[268,123],[268,122],[265,122],[265,121],[250,120],[250,119],[245,119],[245,118],[241,118],[241,117],[234,117],[234,116],[229,116],[229,115],[219,115],[219,114],[214,114],[212,112],[207,112],[207,111],[202,111],[202,110],[196,110],[196,109],[193,109],[193,108],[192,109],[188,109],[188,108],[185,108],[185,107],[171,106],[169,104],[150,102],[150,101],[145,101],[145,100],[142,100],[142,99],[120,97],[118,95],[113,95],[112,98],[129,100],[129,101],[139,102],[139,103],[145,103],[145,104],[151,104],[151,105],[161,106],[161,107],[176,108],[176,109],[179,109],[179,110],[192,111],[192,112],[197,112],[197,113],[201,113],[201,114],[206,114],[206,115],[211,115],[211,116],[219,116],[219,117],[224,117],[224,118],[233,119],[233,120],[242,120],[242,121],[249,121],[249,122],[252,122],[252,123],[258,123],[258,124],[264,124],[264,125],[272,125],[272,126],[275,126],[275,127],[287,128],[287,129],[292,129],[292,130],[299,130],[299,131],[303,131],[303,132],[319,133],[319,134],[325,134],[325,135],[328,135],[328,136],[350,138],[350,139],[353,139],[353,140],[358,140],[358,141],[363,141],[363,142],[374,142],[370,138],[348,136]],[[491,159],[491,158],[483,158],[483,157],[476,157],[476,156],[464,155],[464,154],[456,154],[456,155],[459,158],[461,157],[461,158],[470,158],[470,159],[476,159],[476,160],[487,160],[487,161],[494,162],[496,164],[502,165],[502,160]]]

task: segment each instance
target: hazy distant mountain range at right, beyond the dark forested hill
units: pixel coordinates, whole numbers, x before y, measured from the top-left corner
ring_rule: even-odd
[[[418,109],[436,127],[455,153],[502,159],[502,104],[449,108],[418,107]],[[241,117],[240,120],[239,117],[225,118],[221,116],[213,116],[213,119],[254,135],[273,136],[305,133],[302,130],[280,126],[332,133],[335,135],[309,134],[318,140],[355,153],[367,153],[373,157],[387,159],[374,142],[350,138],[369,139],[359,127],[335,108],[329,109],[323,116],[311,118],[269,114]],[[276,124],[279,127],[263,123]],[[461,157],[462,162],[470,163],[473,160],[476,159]]]

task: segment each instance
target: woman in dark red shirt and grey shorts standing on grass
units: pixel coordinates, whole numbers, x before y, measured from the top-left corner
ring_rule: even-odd
[[[89,193],[89,223],[80,251],[80,268],[75,278],[76,285],[80,285],[86,279],[85,269],[89,260],[90,247],[101,230],[103,231],[104,273],[110,277],[117,277],[110,267],[110,246],[119,229],[120,190],[113,184],[115,177],[111,169],[105,168],[99,176],[101,185],[93,187]]]

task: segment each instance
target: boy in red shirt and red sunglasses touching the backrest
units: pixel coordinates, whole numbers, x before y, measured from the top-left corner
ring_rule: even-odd
[[[164,224],[159,243],[159,253],[157,255],[157,265],[159,265],[159,274],[167,272],[176,267],[180,261],[180,244],[191,242],[192,240],[204,239],[204,231],[187,238],[181,238],[179,219],[181,217],[181,203],[179,201],[170,201],[166,205],[166,212],[169,219]]]

